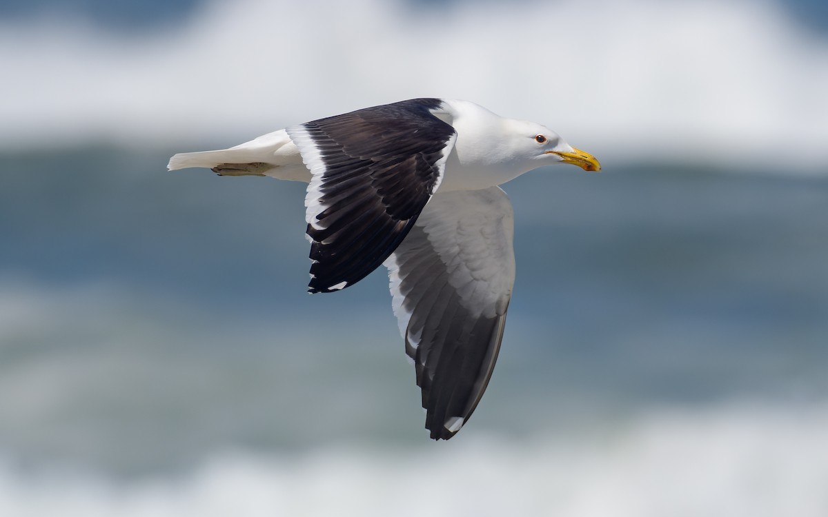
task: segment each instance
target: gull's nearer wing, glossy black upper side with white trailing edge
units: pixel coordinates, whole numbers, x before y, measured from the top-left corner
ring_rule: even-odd
[[[286,129],[312,176],[305,199],[310,292],[362,280],[411,230],[456,139],[433,114],[441,105],[412,99]]]

